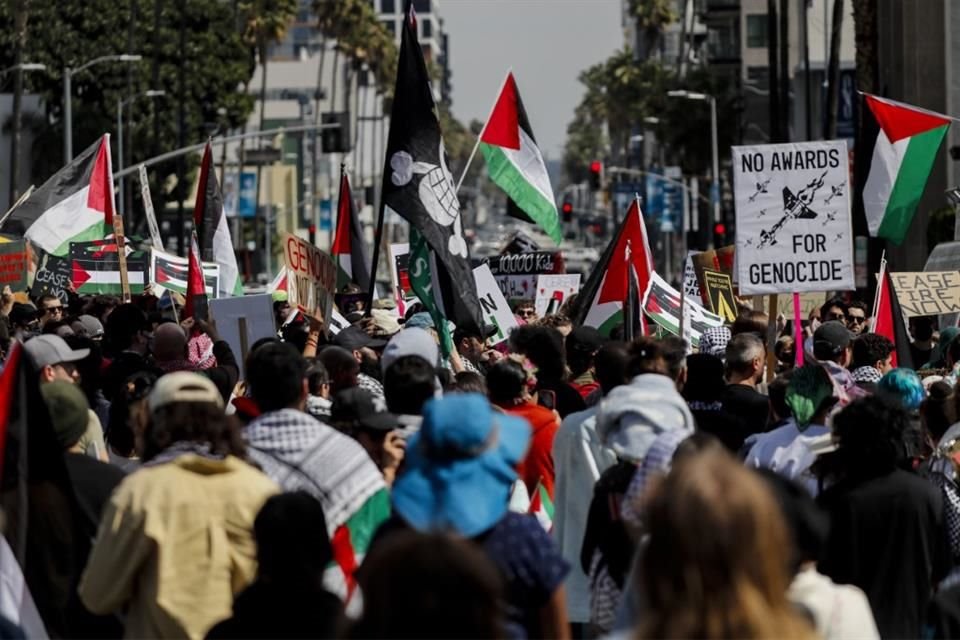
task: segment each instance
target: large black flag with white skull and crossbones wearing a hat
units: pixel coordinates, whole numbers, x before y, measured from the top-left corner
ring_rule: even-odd
[[[457,326],[482,326],[476,282],[463,237],[460,202],[446,152],[430,78],[417,42],[416,17],[406,4],[397,86],[383,171],[383,205],[426,238],[436,265],[433,291]]]

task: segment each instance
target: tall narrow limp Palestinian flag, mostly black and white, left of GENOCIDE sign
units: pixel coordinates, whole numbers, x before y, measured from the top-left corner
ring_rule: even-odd
[[[200,182],[193,207],[193,227],[201,247],[201,259],[220,265],[220,290],[216,297],[242,296],[243,280],[237,267],[237,254],[233,251],[230,227],[223,210],[223,194],[213,169],[213,151],[210,143],[203,150],[200,163]]]

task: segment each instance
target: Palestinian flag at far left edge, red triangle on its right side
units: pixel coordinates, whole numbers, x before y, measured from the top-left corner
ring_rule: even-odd
[[[110,135],[104,134],[16,207],[0,231],[65,257],[71,242],[112,233],[114,211]]]

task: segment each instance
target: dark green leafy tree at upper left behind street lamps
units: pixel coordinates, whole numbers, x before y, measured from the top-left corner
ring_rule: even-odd
[[[181,11],[182,8],[182,11]],[[132,9],[132,10],[131,10]],[[159,9],[155,33],[154,10]],[[131,24],[132,23],[132,24]],[[180,28],[186,47],[180,47]],[[132,31],[134,50],[128,51]],[[13,63],[13,15],[11,3],[0,3],[0,68]],[[98,56],[138,53],[139,63],[104,62],[73,77],[74,150],[79,152],[104,132],[115,133],[117,100],[130,97],[126,86],[128,69],[133,91],[162,89],[166,96],[138,100],[129,107],[124,129],[125,145],[134,162],[145,159],[154,148],[171,151],[177,146],[178,110],[184,105],[184,139],[200,142],[218,123],[231,128],[245,122],[253,99],[238,91],[252,73],[250,49],[235,29],[230,3],[210,0],[156,2],[132,0],[85,0],[84,2],[34,2],[31,4],[29,36],[24,59],[43,63],[47,72],[25,75],[28,90],[42,96],[43,121],[25,123],[34,128],[31,178],[40,184],[62,165],[63,69],[76,68]],[[179,92],[178,70],[186,73],[185,91]],[[155,83],[154,65],[159,82]],[[154,136],[153,119],[159,135]],[[116,157],[116,154],[115,154]],[[195,164],[199,158],[191,158]],[[175,198],[177,163],[154,165],[156,203]]]

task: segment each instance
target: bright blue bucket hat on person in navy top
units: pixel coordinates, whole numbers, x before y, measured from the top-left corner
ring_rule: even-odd
[[[419,531],[477,536],[506,514],[529,443],[527,422],[494,411],[480,394],[430,400],[407,445],[393,508]]]

